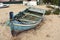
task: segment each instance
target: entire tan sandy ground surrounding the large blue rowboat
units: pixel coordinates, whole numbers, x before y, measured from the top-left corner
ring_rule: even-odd
[[[43,9],[49,10],[45,6],[36,7],[43,7]],[[17,37],[12,37],[10,28],[3,24],[9,19],[10,11],[16,14],[24,8],[26,6],[12,4],[9,8],[0,9],[0,40],[60,40],[60,18],[57,15],[46,15],[44,21],[36,29],[25,31]]]

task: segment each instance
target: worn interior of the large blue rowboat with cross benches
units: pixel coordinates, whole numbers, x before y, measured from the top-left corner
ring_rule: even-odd
[[[14,19],[21,22],[22,24],[36,24],[42,20],[42,13],[34,12],[30,10],[25,10],[24,12],[19,12],[14,16]]]

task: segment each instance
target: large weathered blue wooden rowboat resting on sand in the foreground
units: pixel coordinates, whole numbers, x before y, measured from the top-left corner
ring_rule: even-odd
[[[12,16],[9,25],[11,30],[25,31],[36,27],[44,18],[46,10],[29,7]],[[12,13],[12,12],[11,12]]]

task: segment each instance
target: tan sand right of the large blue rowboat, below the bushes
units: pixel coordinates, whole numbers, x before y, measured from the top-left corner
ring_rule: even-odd
[[[60,17],[57,15],[45,16],[38,28],[25,31],[14,40],[60,40]]]

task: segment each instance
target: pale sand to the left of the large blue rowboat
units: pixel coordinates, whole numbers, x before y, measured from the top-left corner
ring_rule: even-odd
[[[18,7],[17,7],[18,6]],[[6,26],[6,21],[9,20],[9,12],[13,11],[14,15],[22,11],[26,6],[21,4],[12,4],[8,8],[0,8],[0,40],[11,40],[11,29]]]

